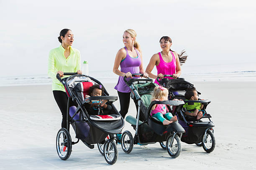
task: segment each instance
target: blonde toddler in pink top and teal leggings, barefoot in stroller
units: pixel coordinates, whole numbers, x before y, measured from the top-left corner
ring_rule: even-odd
[[[161,86],[156,86],[152,95],[151,101],[165,101],[168,100],[168,90]],[[164,104],[155,104],[151,107],[150,115],[158,118],[163,125],[169,125],[177,120],[177,116],[173,116]],[[166,113],[166,111],[168,111]]]

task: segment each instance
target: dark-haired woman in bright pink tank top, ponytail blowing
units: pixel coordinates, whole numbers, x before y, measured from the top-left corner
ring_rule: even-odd
[[[160,47],[161,52],[154,54],[146,68],[148,77],[150,78],[164,78],[164,75],[173,75],[173,77],[166,77],[168,79],[177,78],[181,75],[181,65],[187,60],[187,55],[182,50],[181,54],[177,54],[171,50],[172,40],[168,36],[161,37]],[[151,73],[156,65],[157,75]],[[155,83],[159,84],[156,80]]]

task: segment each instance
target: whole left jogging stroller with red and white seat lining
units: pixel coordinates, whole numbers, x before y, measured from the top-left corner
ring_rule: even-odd
[[[90,149],[93,149],[93,144],[97,143],[98,149],[104,155],[107,163],[114,164],[118,158],[115,134],[120,133],[124,127],[123,117],[113,105],[117,96],[109,96],[105,90],[102,96],[85,98],[85,95],[90,95],[90,86],[102,85],[102,83],[87,75],[77,75],[77,73],[70,72],[64,73],[64,75],[72,76],[61,79],[59,74],[56,75],[57,79],[64,85],[68,96],[67,129],[61,128],[56,137],[56,149],[59,158],[67,160],[72,152],[72,145],[81,140]],[[71,100],[77,103],[77,108],[70,107]],[[88,102],[99,100],[108,100],[107,103],[112,107],[111,110],[103,113],[101,107],[98,107],[98,115],[91,115],[86,107],[89,105]],[[72,141],[69,134],[69,124],[72,125],[76,134],[76,142]]]

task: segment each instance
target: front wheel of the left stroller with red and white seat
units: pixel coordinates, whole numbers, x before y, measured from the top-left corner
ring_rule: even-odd
[[[104,143],[104,158],[107,163],[113,165],[118,158],[118,149],[114,140],[106,140]]]

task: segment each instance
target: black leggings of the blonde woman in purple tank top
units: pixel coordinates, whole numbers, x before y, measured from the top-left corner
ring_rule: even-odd
[[[125,115],[128,113],[128,108],[130,105],[130,94],[131,92],[119,92],[118,97],[120,102],[120,115],[125,118]]]

